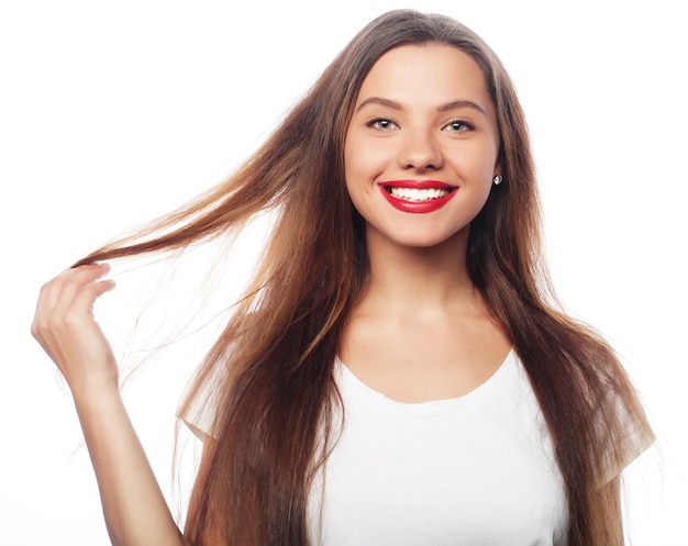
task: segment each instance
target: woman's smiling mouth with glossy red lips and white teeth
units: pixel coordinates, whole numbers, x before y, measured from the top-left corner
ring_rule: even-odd
[[[395,209],[413,214],[442,209],[458,190],[439,180],[388,180],[378,188]]]

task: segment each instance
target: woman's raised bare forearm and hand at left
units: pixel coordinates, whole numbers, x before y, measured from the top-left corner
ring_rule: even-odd
[[[93,303],[114,287],[107,265],[64,271],[41,290],[32,333],[65,376],[96,470],[114,546],[187,545],[126,414]]]

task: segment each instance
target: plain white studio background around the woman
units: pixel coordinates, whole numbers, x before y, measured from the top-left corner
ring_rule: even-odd
[[[398,7],[386,0],[0,3],[0,544],[109,544],[71,401],[29,334],[41,283],[219,181],[355,32]],[[406,7],[466,23],[515,80],[559,296],[619,350],[659,438],[629,472],[634,544],[688,544],[681,2],[415,0]],[[233,271],[247,259],[237,256],[229,263]],[[136,312],[147,307],[142,293],[169,303],[162,312],[173,315],[203,301],[188,287],[160,298],[165,283],[130,277],[136,274],[118,278],[98,308],[120,352]],[[142,283],[153,290],[142,291]],[[160,339],[140,337],[136,332],[143,345]],[[192,339],[162,352],[125,391],[168,493],[173,414],[203,346]],[[140,356],[122,354],[130,364]]]

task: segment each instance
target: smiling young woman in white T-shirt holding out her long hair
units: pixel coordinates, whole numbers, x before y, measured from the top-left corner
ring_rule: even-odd
[[[273,209],[253,286],[181,416],[204,450],[180,533],[91,309],[107,260]],[[610,347],[542,264],[525,121],[491,49],[441,15],[366,26],[228,182],[41,291],[115,545],[623,543],[653,439]]]

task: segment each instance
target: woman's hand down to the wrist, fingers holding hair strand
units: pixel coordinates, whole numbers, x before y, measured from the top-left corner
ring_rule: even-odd
[[[76,398],[119,390],[118,365],[93,316],[93,303],[114,288],[108,264],[67,269],[41,289],[31,333],[57,365]]]

